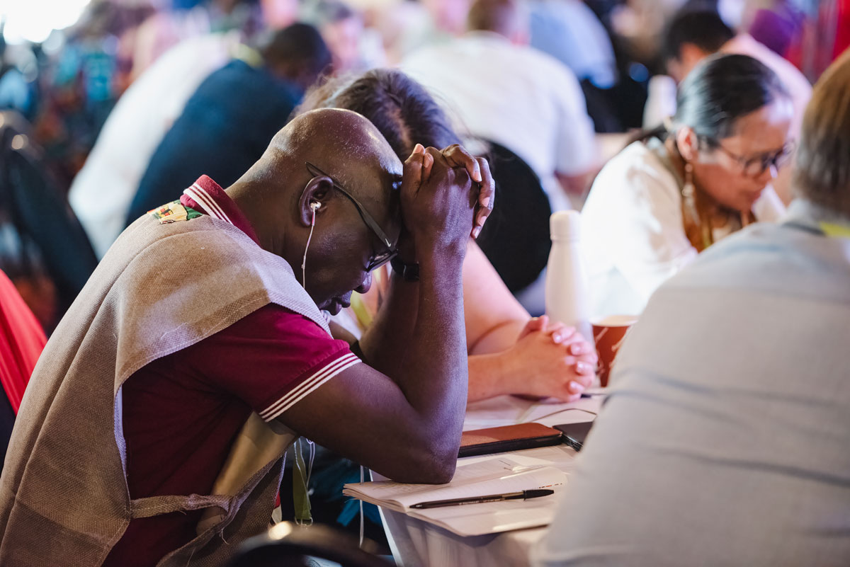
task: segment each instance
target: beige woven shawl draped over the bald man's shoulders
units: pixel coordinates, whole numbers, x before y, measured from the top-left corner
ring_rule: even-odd
[[[286,261],[229,223],[144,216],[128,227],[59,323],[26,390],[0,477],[0,564],[96,567],[130,519],[176,510],[218,506],[224,515],[160,565],[221,564],[235,543],[262,531],[282,451],[231,495],[130,499],[121,386],[148,362],[269,303],[328,331]]]

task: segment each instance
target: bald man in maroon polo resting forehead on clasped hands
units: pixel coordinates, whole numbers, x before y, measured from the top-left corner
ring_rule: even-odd
[[[268,526],[296,435],[396,480],[450,480],[461,266],[491,190],[457,146],[402,165],[365,118],[321,109],[226,190],[201,177],[133,222],[33,373],[0,478],[0,564],[223,564]],[[415,304],[390,297],[354,351],[333,340],[320,310],[397,254]]]

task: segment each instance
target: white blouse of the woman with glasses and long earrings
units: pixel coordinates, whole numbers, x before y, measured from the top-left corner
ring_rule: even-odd
[[[768,185],[753,213],[775,222],[785,206]],[[677,177],[646,143],[630,144],[604,166],[581,217],[592,317],[639,315],[655,289],[697,255]],[[714,233],[723,236],[723,229]]]

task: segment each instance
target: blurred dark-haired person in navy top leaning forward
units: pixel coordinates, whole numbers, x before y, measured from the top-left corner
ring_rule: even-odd
[[[234,59],[201,83],[151,156],[127,225],[201,175],[224,185],[235,182],[331,67],[325,42],[307,24],[275,32],[260,55],[252,62]]]

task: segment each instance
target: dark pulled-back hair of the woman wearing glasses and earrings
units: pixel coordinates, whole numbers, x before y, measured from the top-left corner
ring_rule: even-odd
[[[788,96],[779,76],[757,59],[711,55],[679,85],[672,125],[642,132],[637,139],[664,139],[680,126],[689,126],[700,143],[711,148],[734,134],[738,119]]]

